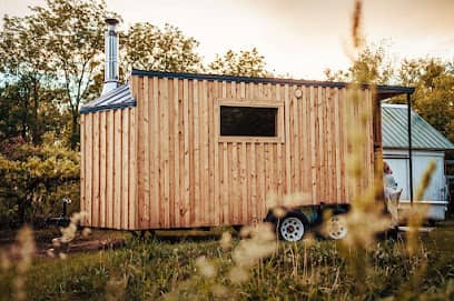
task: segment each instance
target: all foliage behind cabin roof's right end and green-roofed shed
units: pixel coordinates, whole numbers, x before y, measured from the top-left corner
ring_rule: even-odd
[[[454,141],[454,62],[434,58],[405,59],[395,68],[391,64],[383,44],[368,46],[359,52],[348,70],[327,69],[325,76],[329,81],[356,80],[415,87],[412,96],[413,109]],[[406,97],[396,97],[391,102],[406,103]]]

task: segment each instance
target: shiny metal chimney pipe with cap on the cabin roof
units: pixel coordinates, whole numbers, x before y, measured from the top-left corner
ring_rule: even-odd
[[[115,18],[107,18],[106,23],[108,24],[108,28],[105,34],[106,68],[102,94],[116,89],[119,86],[118,33],[116,30],[119,21]]]

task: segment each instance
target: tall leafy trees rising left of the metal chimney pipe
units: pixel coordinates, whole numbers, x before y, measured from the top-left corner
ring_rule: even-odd
[[[75,149],[79,141],[79,106],[99,96],[89,88],[93,74],[100,71],[103,18],[108,12],[106,3],[97,0],[46,3],[31,8],[31,16],[4,18],[0,71],[19,84],[23,91],[24,119],[33,119],[36,124],[40,91],[53,91],[53,99],[47,101],[70,112],[70,140]],[[32,142],[39,142],[40,134],[33,133]]]

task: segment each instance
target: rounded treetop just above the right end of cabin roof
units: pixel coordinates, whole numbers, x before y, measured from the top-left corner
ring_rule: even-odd
[[[394,73],[383,42],[378,46],[365,47],[346,71],[325,70],[325,77],[328,81],[357,81],[375,84],[388,84],[393,80]]]

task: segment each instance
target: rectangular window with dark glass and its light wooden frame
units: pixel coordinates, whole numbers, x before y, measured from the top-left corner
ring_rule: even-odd
[[[219,142],[284,142],[284,107],[270,101],[218,101]]]

